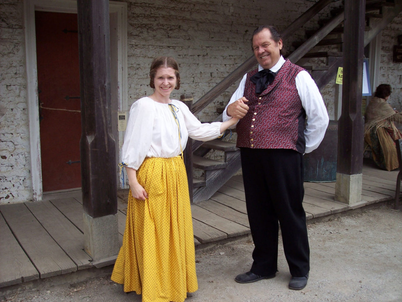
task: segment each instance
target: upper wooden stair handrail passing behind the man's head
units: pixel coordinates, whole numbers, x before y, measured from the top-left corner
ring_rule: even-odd
[[[314,17],[320,10],[327,6],[332,0],[320,0],[304,12],[299,18],[293,21],[285,30],[283,30],[282,38],[286,39],[293,32],[302,27],[307,21]],[[257,63],[254,56],[251,56],[238,66],[232,73],[230,73],[225,79],[220,81],[215,87],[209,90],[203,95],[197,102],[193,104],[193,114],[198,114],[203,110],[211,101],[217,96],[221,95],[226,89],[228,89],[235,81],[240,79],[246,72],[248,72]]]

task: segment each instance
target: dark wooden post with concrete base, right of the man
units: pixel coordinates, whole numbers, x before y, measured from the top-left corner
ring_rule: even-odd
[[[365,0],[345,0],[342,114],[338,123],[335,199],[349,205],[361,201],[363,130],[361,114]]]

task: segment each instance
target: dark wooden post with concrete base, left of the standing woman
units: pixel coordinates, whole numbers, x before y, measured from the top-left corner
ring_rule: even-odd
[[[109,1],[78,0],[85,250],[93,261],[119,251],[115,140],[111,126]]]

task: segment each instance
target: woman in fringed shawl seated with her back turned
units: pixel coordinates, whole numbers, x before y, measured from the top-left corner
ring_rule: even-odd
[[[399,167],[395,140],[402,138],[395,125],[402,121],[402,116],[387,103],[390,95],[391,85],[381,84],[375,89],[367,105],[364,126],[364,140],[371,147],[374,162],[388,171]]]

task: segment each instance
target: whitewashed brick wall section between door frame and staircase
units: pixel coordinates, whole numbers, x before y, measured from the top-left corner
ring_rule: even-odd
[[[333,6],[339,4],[334,2]],[[155,56],[172,56],[178,61],[182,86],[172,97],[179,99],[182,93],[192,93],[197,101],[253,55],[250,39],[257,26],[272,24],[282,30],[311,5],[306,0],[130,1],[129,105],[152,93],[148,77]],[[328,16],[328,10],[323,15]],[[316,19],[308,27],[318,27]],[[302,36],[302,30],[295,33],[285,41],[285,48],[291,50],[291,42]],[[226,105],[238,82],[199,114],[201,121],[211,121],[218,115],[216,108]]]

